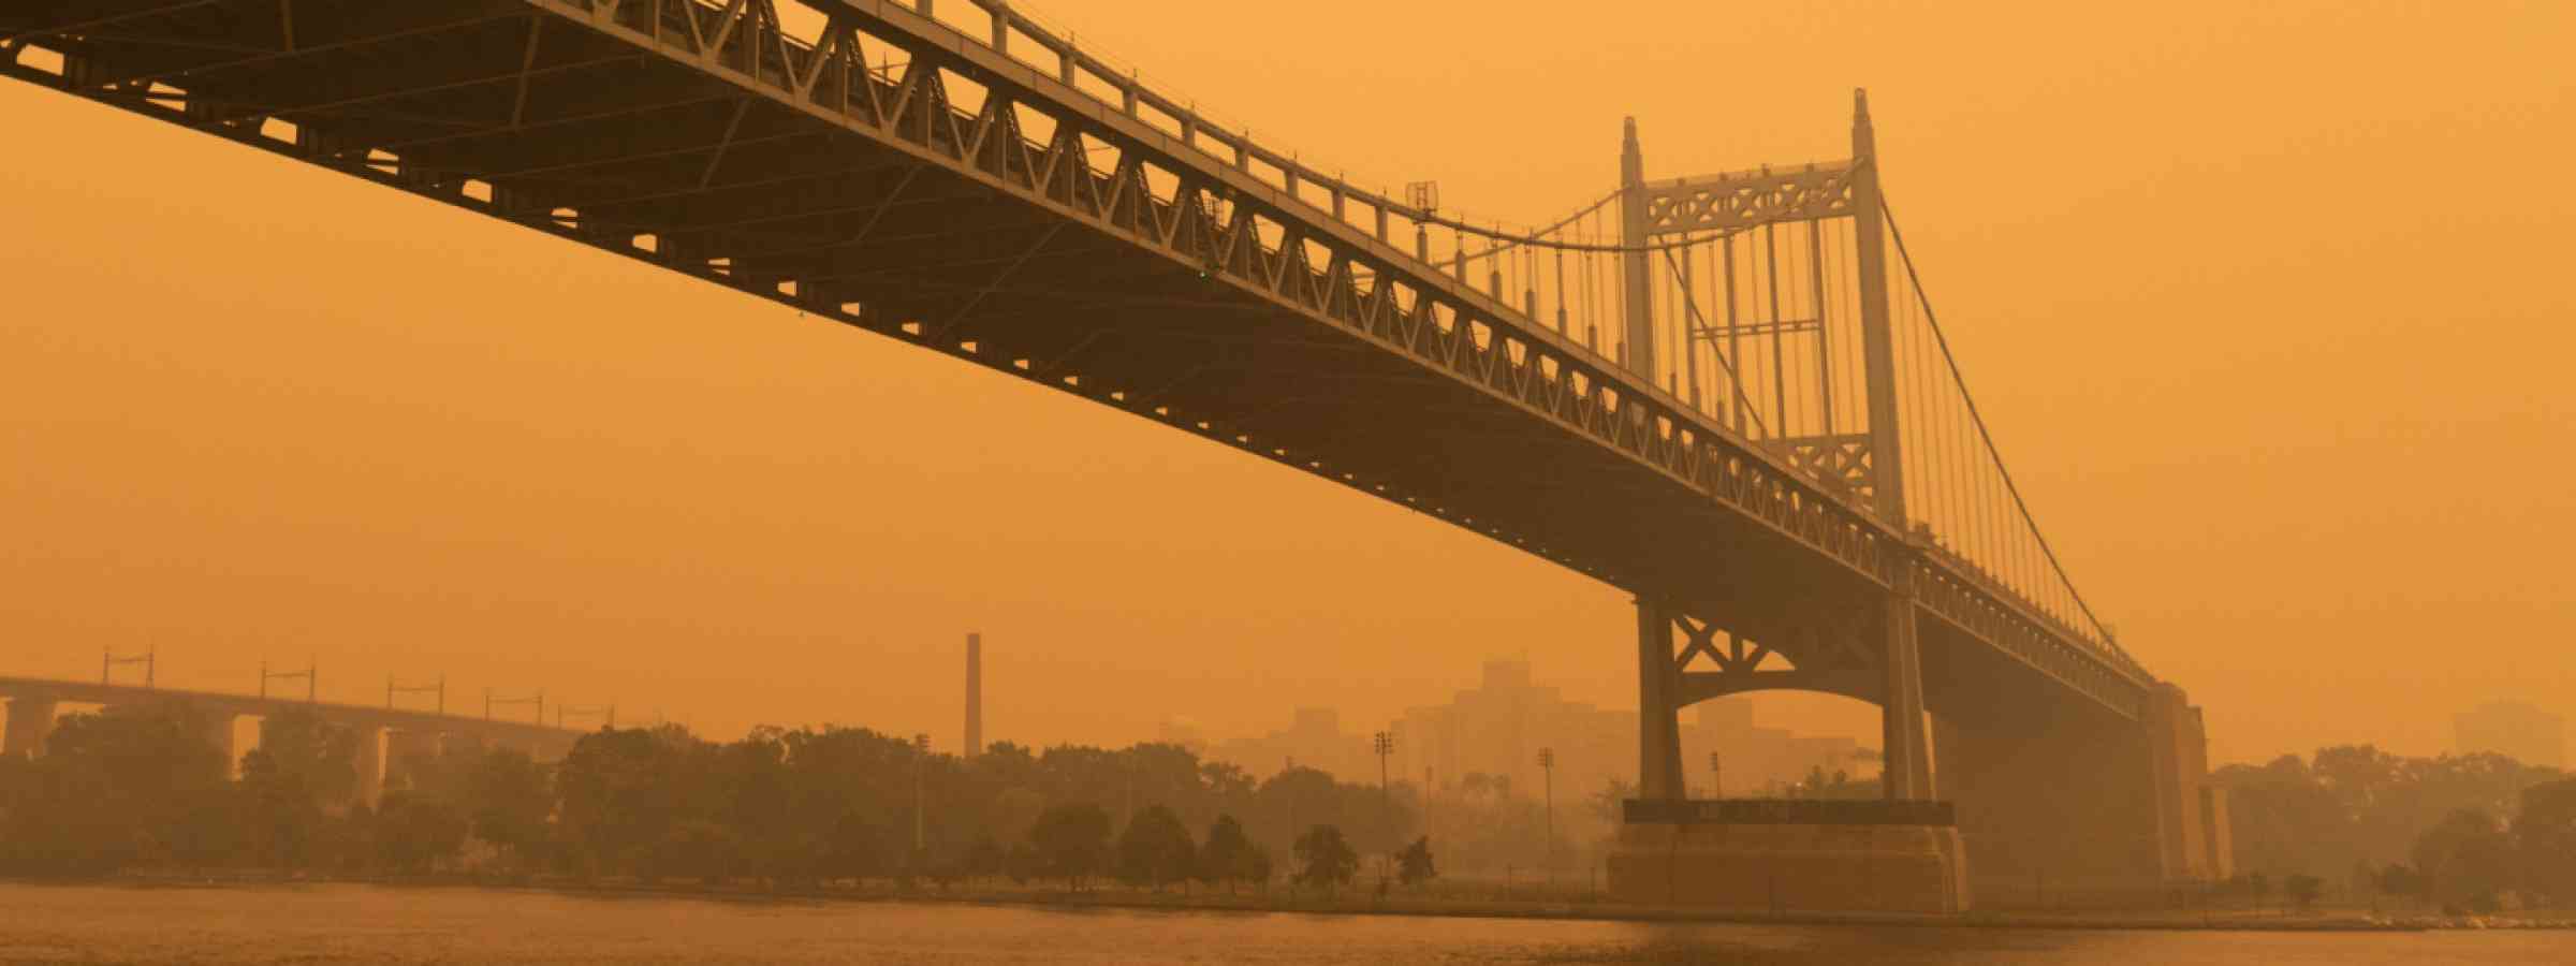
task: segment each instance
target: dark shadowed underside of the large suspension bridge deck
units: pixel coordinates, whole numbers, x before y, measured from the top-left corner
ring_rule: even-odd
[[[62,31],[80,23],[106,26]],[[1651,574],[1744,600],[1868,582],[1430,363],[1427,343],[1448,335],[1391,348],[1406,335],[1319,322],[1239,278],[1247,265],[1185,258],[1198,247],[1185,234],[1226,232],[1226,214],[1195,216],[1144,178],[1074,173],[1072,155],[1105,165],[1115,152],[1056,137],[1069,121],[1041,131],[1038,116],[999,111],[976,124],[963,72],[896,82],[891,126],[1051,178],[1066,201],[1033,204],[922,144],[744,90],[711,64],[755,54],[688,54],[680,21],[662,49],[639,49],[546,3],[299,0],[289,39],[276,3],[59,0],[0,10],[0,33],[70,52],[59,77],[10,67],[23,80],[1082,394],[1602,580]],[[1082,216],[1092,204],[1172,237]],[[1352,268],[1337,283],[1365,299],[1363,281]]]

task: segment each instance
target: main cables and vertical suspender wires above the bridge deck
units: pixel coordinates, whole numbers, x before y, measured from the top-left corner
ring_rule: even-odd
[[[1409,258],[1414,270],[1453,278],[1515,325],[1556,335],[1602,371],[1656,358],[1662,363],[1643,376],[1646,386],[1703,417],[1703,430],[1793,469],[1855,513],[1875,515],[1868,500],[1875,453],[1865,443],[1870,422],[1857,314],[1862,281],[1855,270],[1860,240],[1850,193],[1860,160],[1649,183],[1646,193],[1667,204],[1672,219],[1646,240],[1620,224],[1623,211],[1610,204],[1618,193],[1551,224],[1504,229],[1358,185],[1298,152],[1265,147],[1247,126],[1221,124],[1195,100],[1146,85],[1136,67],[1005,0],[793,3],[809,15],[778,28],[809,49],[835,18],[871,18],[994,52],[1275,188],[1309,219],[1368,234],[1396,258]],[[693,5],[714,15],[742,10],[724,0]],[[755,8],[768,5],[755,0]],[[881,54],[868,70],[894,85],[912,67],[909,54],[904,62],[891,59],[899,52]],[[2066,639],[2136,667],[2066,577],[2004,469],[1893,229],[1888,250],[1901,255],[1888,270],[1888,304],[1901,368],[1893,389],[1906,443],[1901,474],[1911,497],[1906,520],[1886,520],[1888,531],[1927,546],[1947,569]],[[1649,317],[1649,327],[1631,332],[1633,314]]]

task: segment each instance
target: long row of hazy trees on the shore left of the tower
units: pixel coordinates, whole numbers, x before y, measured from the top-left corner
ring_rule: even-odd
[[[868,729],[665,724],[580,737],[562,762],[466,747],[397,762],[358,801],[358,734],[304,711],[232,762],[185,703],[64,716],[0,760],[0,873],[129,868],[502,871],[770,884],[1056,881],[1342,886],[1363,855],[1435,873],[1412,788],[1311,768],[1252,778],[1172,744],[933,755]],[[1195,832],[1203,829],[1203,832]],[[1288,863],[1278,858],[1285,855]],[[1283,868],[1285,866],[1285,868]]]

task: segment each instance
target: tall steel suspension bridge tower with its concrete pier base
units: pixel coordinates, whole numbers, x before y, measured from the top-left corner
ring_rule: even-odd
[[[1868,95],[1852,100],[1852,157],[1803,170],[1752,170],[1713,178],[1646,180],[1643,149],[1631,118],[1620,142],[1620,291],[1625,314],[1623,368],[1654,386],[1680,392],[1667,366],[1695,366],[1703,340],[1723,343],[1731,366],[1744,366],[1739,340],[1780,345],[1811,340],[1819,368],[1826,350],[1826,283],[1808,276],[1803,319],[1783,317],[1780,237],[1821,263],[1826,222],[1850,224],[1852,296],[1837,304],[1857,317],[1860,402],[1865,430],[1832,412],[1832,374],[1819,371],[1819,407],[1806,425],[1790,425],[1788,407],[1772,407],[1770,425],[1754,425],[1754,443],[1798,469],[1839,479],[1870,515],[1904,533],[1904,433],[1899,361],[1891,325],[1888,232],[1878,193],[1878,144]],[[1757,198],[1757,201],[1744,201]],[[1723,319],[1710,322],[1692,304],[1692,250],[1721,250],[1708,265],[1721,273]],[[1680,252],[1674,252],[1680,247]],[[1762,265],[1770,301],[1767,327],[1736,325],[1739,255],[1747,276]],[[1662,273],[1662,276],[1659,276]],[[1659,289],[1664,286],[1664,289]],[[1659,361],[1654,299],[1682,314],[1672,340],[1685,358]],[[1667,335],[1674,335],[1667,330]],[[1741,384],[1728,371],[1728,392]],[[1698,371],[1690,376],[1700,386]],[[1777,379],[1772,381],[1777,386]],[[1772,389],[1780,392],[1780,389]],[[1736,410],[1741,412],[1741,410]],[[1747,425],[1736,417],[1739,430]],[[1935,801],[1932,729],[1924,703],[1924,662],[1911,587],[1914,546],[1880,541],[1883,587],[1862,592],[1819,590],[1801,577],[1739,574],[1741,587],[1631,587],[1638,613],[1638,799],[1628,804],[1620,850],[1613,855],[1613,894],[1633,902],[1731,907],[1829,907],[1888,912],[1958,912],[1968,904],[1968,876],[1950,806]],[[1705,657],[1710,670],[1695,670]],[[1795,659],[1775,670],[1767,659]],[[1687,801],[1682,781],[1680,708],[1728,693],[1765,688],[1829,690],[1880,706],[1886,750],[1878,804],[1852,801]]]

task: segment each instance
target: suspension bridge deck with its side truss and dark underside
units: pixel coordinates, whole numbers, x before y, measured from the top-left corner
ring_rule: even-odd
[[[1133,80],[1082,77],[1097,70],[1079,52],[1041,70],[997,49],[1023,26],[969,36],[902,3],[809,5],[829,13],[811,44],[770,0],[57,0],[0,8],[0,59],[1121,407],[1685,605],[1775,608],[1919,569],[1922,608],[1960,634],[2112,711],[2143,701],[2143,670],[1891,551],[1896,528],[1783,453],[1414,260],[1386,240],[1404,214],[1386,198],[1319,191]],[[1082,90],[1100,82],[1113,95]],[[1157,103],[1175,131],[1146,118]],[[1826,211],[1834,173],[1672,185],[1667,211],[1677,229]],[[1352,206],[1376,206],[1376,229]]]

